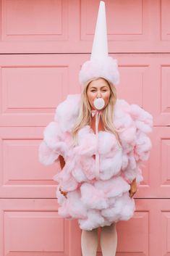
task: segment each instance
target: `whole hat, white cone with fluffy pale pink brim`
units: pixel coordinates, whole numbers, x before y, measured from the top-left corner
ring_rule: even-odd
[[[98,9],[98,19],[95,26],[95,36],[93,39],[93,49],[90,60],[82,65],[79,73],[79,80],[82,87],[95,78],[105,78],[112,86],[119,84],[117,60],[108,56],[104,1],[100,2]]]

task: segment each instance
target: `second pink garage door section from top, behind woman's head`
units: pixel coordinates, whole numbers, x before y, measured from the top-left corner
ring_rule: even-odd
[[[170,54],[111,56],[119,62],[119,98],[151,112],[154,125],[170,125]],[[47,125],[54,117],[56,105],[67,94],[80,92],[78,72],[89,57],[89,54],[1,55],[0,125]]]

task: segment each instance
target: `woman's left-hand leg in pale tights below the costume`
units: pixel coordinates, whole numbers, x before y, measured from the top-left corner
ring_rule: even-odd
[[[98,228],[92,231],[82,230],[81,234],[82,256],[95,256],[98,247]]]

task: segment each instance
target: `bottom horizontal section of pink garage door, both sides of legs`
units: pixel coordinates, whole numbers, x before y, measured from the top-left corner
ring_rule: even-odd
[[[168,256],[170,199],[135,201],[133,218],[117,223],[116,255]],[[59,217],[56,199],[0,199],[0,224],[1,256],[81,255],[80,228]]]

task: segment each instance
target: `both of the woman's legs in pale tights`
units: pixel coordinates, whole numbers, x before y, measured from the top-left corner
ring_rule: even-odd
[[[116,223],[101,228],[101,251],[103,256],[115,256],[117,246]],[[98,228],[92,231],[82,230],[82,256],[96,256],[98,247]]]

